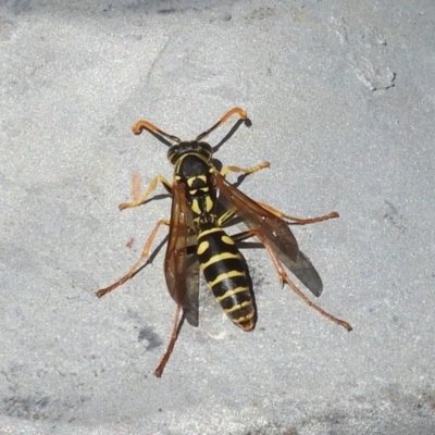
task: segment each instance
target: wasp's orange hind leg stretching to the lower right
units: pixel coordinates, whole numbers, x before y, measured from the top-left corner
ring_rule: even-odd
[[[333,321],[334,323],[336,323],[339,326],[343,326],[347,331],[352,331],[352,327],[349,325],[349,323],[347,323],[344,320],[340,320],[340,319],[336,318],[335,315],[328,313],[327,311],[323,310],[316,303],[314,303],[312,300],[310,300],[306,295],[303,295],[301,289],[285,273],[283,264],[281,263],[278,258],[276,257],[276,253],[273,251],[273,249],[269,245],[266,238],[263,236],[263,234],[260,231],[249,229],[244,233],[235,235],[234,238],[237,239],[237,241],[241,241],[241,240],[246,240],[247,238],[253,237],[253,236],[257,236],[260,239],[261,244],[264,246],[264,248],[268,250],[269,256],[271,257],[273,265],[275,266],[276,273],[278,274],[279,279],[283,283],[283,285],[284,285],[284,283],[287,283],[291,287],[291,289],[300,298],[302,298],[306,301],[306,303],[308,303],[310,307],[312,307],[315,311],[320,312],[326,319],[330,319],[331,321]]]

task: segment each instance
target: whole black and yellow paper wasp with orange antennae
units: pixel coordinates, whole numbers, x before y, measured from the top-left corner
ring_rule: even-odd
[[[320,296],[322,282],[310,260],[299,251],[288,225],[322,222],[338,217],[338,213],[332,212],[313,219],[293,217],[250,199],[229,184],[225,179],[228,172],[250,174],[269,166],[268,162],[248,169],[224,166],[219,171],[214,166],[213,149],[202,139],[234,114],[239,116],[239,123],[249,122],[243,109],[234,108],[191,141],[183,141],[169,135],[148,121],[138,121],[133,126],[136,135],[147,129],[170,146],[167,159],[174,166],[174,179],[170,183],[161,175],[157,176],[140,198],[121,203],[120,209],[144,204],[161,183],[172,196],[171,220],[160,220],[156,224],[139,260],[121,279],[98,290],[97,296],[105,295],[133,277],[141,269],[139,266],[144,260],[149,258],[159,227],[170,227],[164,274],[177,308],[170,344],[154,372],[158,377],[163,373],[184,320],[192,326],[198,326],[199,269],[229,319],[244,331],[253,330],[257,312],[252,300],[252,285],[247,263],[237,246],[250,237],[257,237],[264,246],[283,285],[287,283],[310,307],[351,331],[347,322],[324,311],[304,296],[287,276],[283,266],[286,265],[314,296]],[[174,144],[171,145],[165,139]],[[247,231],[228,235],[225,227],[234,220],[244,223]]]

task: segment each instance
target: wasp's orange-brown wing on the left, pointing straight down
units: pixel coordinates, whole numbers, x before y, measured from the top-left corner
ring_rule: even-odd
[[[186,201],[185,186],[175,182],[172,186],[171,225],[164,259],[167,289],[175,303],[183,307],[184,315],[192,326],[198,326],[199,264],[192,249],[197,234],[192,225],[191,210]]]

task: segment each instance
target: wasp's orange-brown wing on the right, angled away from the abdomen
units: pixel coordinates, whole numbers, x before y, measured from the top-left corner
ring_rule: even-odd
[[[323,289],[322,279],[308,257],[299,251],[288,223],[231,185],[219,172],[213,173],[213,183],[223,207],[234,211],[234,216],[241,220],[248,228],[259,229],[286,268],[314,296],[320,296]]]

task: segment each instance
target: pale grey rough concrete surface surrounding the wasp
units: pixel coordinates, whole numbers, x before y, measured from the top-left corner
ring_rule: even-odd
[[[433,1],[3,1],[0,57],[1,434],[435,433]],[[256,331],[202,284],[158,380],[164,249],[95,297],[169,216],[169,198],[116,209],[133,174],[172,177],[130,127],[190,139],[235,105],[252,126],[216,158],[271,162],[240,188],[339,211],[294,232],[353,331],[248,249]]]

